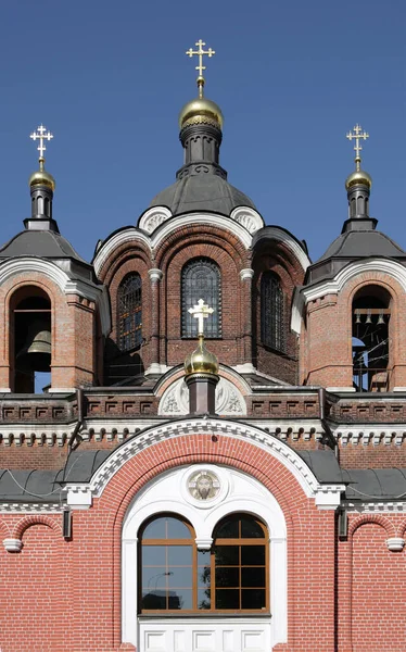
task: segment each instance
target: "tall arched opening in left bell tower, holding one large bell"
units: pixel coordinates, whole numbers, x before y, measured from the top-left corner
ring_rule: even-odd
[[[17,393],[43,391],[51,383],[51,301],[36,286],[11,301],[11,387]]]

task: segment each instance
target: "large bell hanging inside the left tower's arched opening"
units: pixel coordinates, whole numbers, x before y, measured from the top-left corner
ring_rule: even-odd
[[[51,330],[45,319],[35,319],[28,326],[25,346],[16,354],[18,369],[49,372],[51,364]]]

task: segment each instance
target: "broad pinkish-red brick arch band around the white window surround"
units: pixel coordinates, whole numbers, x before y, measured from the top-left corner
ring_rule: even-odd
[[[249,441],[236,440],[227,435],[191,435],[176,437],[143,449],[130,457],[115,473],[105,487],[102,496],[94,500],[93,527],[94,531],[102,529],[111,532],[109,550],[112,555],[113,577],[115,582],[120,578],[120,541],[123,521],[135,496],[158,474],[177,466],[198,463],[223,464],[237,468],[255,477],[278,501],[287,523],[290,552],[288,552],[291,568],[300,555],[300,527],[304,513],[312,513],[317,519],[328,518],[329,511],[318,511],[314,502],[309,502],[299,481],[292,473],[268,451],[258,449]],[[332,523],[332,522],[331,522]],[[297,524],[295,526],[294,524]],[[333,526],[330,524],[333,528]],[[299,556],[297,556],[299,559]],[[289,594],[294,603],[295,585],[293,579],[289,586]],[[113,598],[114,644],[120,643],[120,597],[119,592]],[[295,627],[293,610],[290,613],[289,630]],[[292,636],[292,634],[290,634]]]

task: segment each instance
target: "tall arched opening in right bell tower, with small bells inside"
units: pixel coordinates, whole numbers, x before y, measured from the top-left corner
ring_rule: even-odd
[[[353,386],[356,391],[390,388],[391,294],[381,286],[361,288],[353,300]]]

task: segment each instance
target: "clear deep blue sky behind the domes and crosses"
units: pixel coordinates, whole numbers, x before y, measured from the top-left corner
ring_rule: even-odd
[[[345,133],[359,122],[371,214],[406,248],[404,0],[18,0],[0,4],[0,24],[1,241],[28,216],[41,122],[54,216],[78,252],[90,260],[137,223],[182,163],[185,51],[202,38],[216,50],[206,96],[225,114],[221,164],[266,223],[321,255],[346,218]]]

